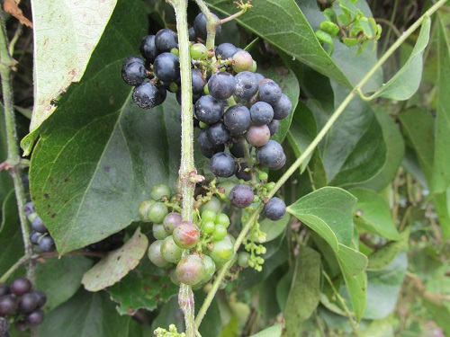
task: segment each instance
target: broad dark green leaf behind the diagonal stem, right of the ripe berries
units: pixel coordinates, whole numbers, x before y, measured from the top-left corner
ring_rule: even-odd
[[[349,91],[336,83],[332,87],[336,109]],[[329,114],[321,111],[314,102],[309,102],[308,106],[321,129]],[[382,170],[387,149],[380,123],[367,102],[356,97],[347,105],[320,143],[320,155],[329,183],[336,186],[366,182]]]

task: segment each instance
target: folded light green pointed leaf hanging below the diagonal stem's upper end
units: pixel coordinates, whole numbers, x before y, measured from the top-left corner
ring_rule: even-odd
[[[393,75],[388,83],[384,84],[370,97],[371,99],[384,97],[396,101],[405,101],[418,91],[422,79],[422,55],[428,45],[430,27],[431,19],[427,17],[422,23],[419,38],[408,61],[397,74]]]

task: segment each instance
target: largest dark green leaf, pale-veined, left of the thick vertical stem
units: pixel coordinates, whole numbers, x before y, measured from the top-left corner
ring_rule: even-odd
[[[31,157],[31,196],[67,253],[138,220],[139,203],[158,182],[175,182],[179,106],[168,94],[151,111],[130,99],[121,62],[145,34],[141,2],[120,1],[79,84],[41,128]]]

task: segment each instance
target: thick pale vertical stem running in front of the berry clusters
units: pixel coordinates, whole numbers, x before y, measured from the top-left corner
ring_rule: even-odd
[[[180,183],[183,195],[182,216],[184,221],[193,221],[193,191],[198,177],[193,163],[193,90],[191,78],[191,58],[189,53],[189,33],[187,27],[187,0],[167,0],[175,9],[176,31],[181,73],[181,164]],[[185,250],[183,256],[189,254]],[[186,337],[194,337],[193,289],[184,283],[178,292],[178,304],[184,313]]]

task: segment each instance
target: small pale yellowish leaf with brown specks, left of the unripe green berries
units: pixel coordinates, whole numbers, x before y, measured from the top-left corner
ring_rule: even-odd
[[[140,227],[121,248],[108,253],[93,268],[87,270],[81,283],[86,290],[98,291],[117,283],[130,270],[136,268],[147,252],[148,238],[140,233]]]

